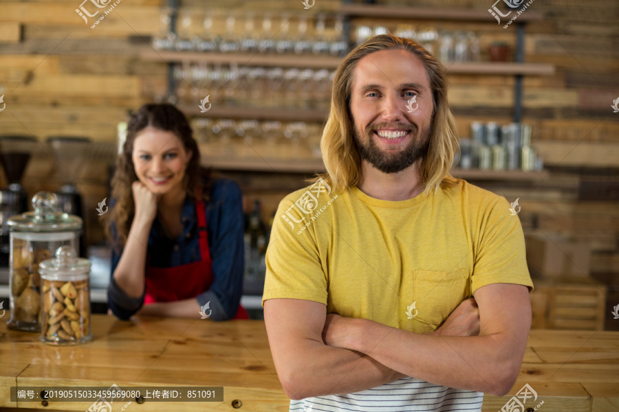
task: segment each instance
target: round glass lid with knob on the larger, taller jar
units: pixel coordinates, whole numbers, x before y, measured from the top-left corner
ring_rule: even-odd
[[[80,230],[82,219],[63,211],[56,211],[58,198],[52,192],[38,192],[32,196],[32,208],[6,221],[10,230],[54,232]]]

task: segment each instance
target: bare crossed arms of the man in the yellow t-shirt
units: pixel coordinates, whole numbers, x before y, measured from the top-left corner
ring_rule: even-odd
[[[519,374],[531,325],[528,288],[490,284],[434,332],[415,334],[301,299],[265,301],[265,325],[287,396],[353,393],[413,376],[503,396]],[[325,344],[326,343],[326,344]]]

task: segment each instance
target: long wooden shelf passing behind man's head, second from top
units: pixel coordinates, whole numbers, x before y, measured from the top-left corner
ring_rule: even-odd
[[[164,62],[208,62],[232,63],[249,66],[270,67],[301,67],[314,69],[335,69],[341,62],[339,57],[329,56],[290,56],[274,54],[225,54],[198,52],[144,52],[140,55],[144,60],[162,60]],[[546,63],[517,62],[445,62],[448,73],[452,74],[504,74],[550,76],[554,74],[554,65]]]

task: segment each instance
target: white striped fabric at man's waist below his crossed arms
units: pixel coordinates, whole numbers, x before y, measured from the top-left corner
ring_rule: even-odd
[[[291,400],[294,412],[481,412],[484,393],[402,378],[347,395]],[[310,409],[311,408],[311,409]]]

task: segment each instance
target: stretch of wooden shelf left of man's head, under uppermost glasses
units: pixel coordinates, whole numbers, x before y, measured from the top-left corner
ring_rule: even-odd
[[[164,62],[237,63],[241,66],[301,67],[307,69],[335,69],[342,58],[333,56],[296,56],[294,54],[248,54],[210,52],[144,52],[142,60]]]

